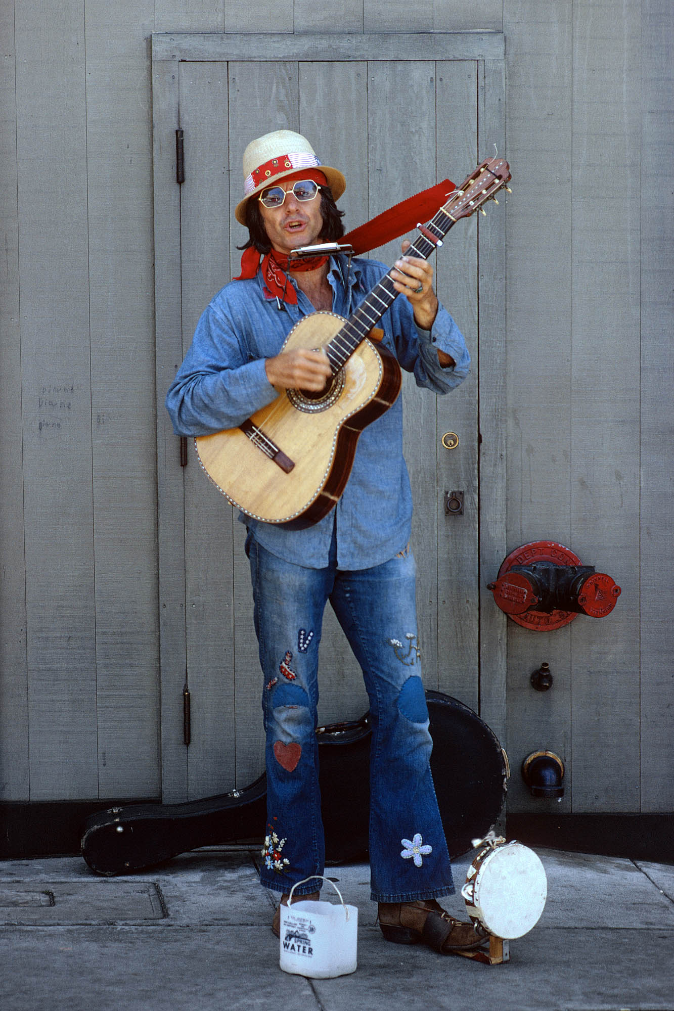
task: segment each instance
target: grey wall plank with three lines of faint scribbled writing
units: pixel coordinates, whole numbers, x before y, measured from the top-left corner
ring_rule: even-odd
[[[83,8],[15,16],[30,797],[95,797]]]

